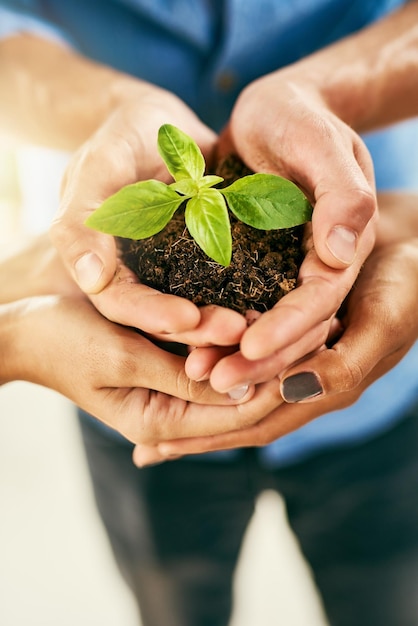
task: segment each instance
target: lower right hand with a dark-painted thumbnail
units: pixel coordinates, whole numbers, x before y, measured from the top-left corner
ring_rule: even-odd
[[[383,227],[378,245],[347,298],[343,333],[331,347],[322,347],[282,373],[281,390],[288,402],[280,403],[247,429],[138,446],[134,453],[137,465],[184,454],[266,445],[320,415],[353,404],[401,360],[418,338],[416,196],[390,195],[381,206]]]

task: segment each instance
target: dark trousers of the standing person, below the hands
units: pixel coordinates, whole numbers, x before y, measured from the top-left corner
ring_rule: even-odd
[[[418,625],[418,405],[372,441],[282,469],[234,462],[137,469],[81,419],[100,514],[144,626],[226,626],[257,495],[275,489],[332,626]]]

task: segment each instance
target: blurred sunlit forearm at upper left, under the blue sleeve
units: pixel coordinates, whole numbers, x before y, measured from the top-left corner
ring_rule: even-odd
[[[156,87],[31,35],[0,42],[0,129],[73,150],[122,102]]]

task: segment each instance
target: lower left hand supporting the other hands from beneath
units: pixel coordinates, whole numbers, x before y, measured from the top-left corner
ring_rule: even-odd
[[[239,340],[225,315],[204,307],[190,340]],[[133,442],[225,432],[278,402],[278,381],[231,396],[190,381],[184,357],[100,315],[45,236],[1,264],[0,346],[0,384],[19,379],[55,389]]]

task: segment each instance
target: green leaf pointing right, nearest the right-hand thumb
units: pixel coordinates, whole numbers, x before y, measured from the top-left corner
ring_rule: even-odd
[[[300,189],[274,174],[245,176],[220,191],[232,213],[254,228],[291,228],[312,217],[312,207]]]

